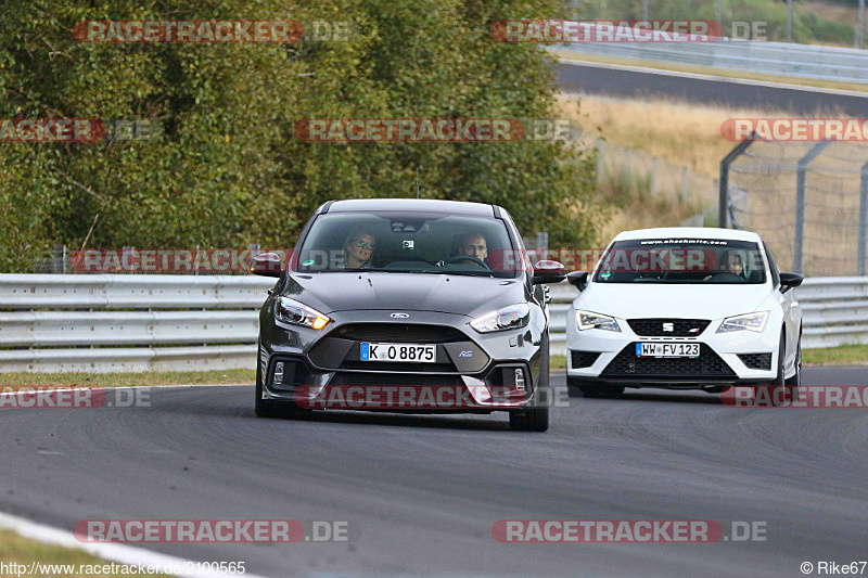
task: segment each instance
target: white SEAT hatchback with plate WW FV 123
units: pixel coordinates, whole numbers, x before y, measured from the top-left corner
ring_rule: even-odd
[[[573,396],[625,387],[704,389],[775,385],[793,399],[802,375],[802,311],[756,233],[713,228],[620,233],[566,318]]]

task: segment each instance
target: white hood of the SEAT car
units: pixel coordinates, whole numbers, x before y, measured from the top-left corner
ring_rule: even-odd
[[[591,283],[576,308],[622,319],[675,317],[719,319],[756,310],[771,293],[763,285]]]

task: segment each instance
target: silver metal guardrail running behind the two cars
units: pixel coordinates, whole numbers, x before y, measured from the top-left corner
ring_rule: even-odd
[[[112,372],[253,368],[258,277],[0,275],[0,371]],[[794,290],[802,346],[868,343],[868,278],[807,279]],[[565,355],[578,292],[551,285],[551,352]]]

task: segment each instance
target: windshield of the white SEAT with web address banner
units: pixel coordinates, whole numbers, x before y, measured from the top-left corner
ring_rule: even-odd
[[[720,239],[617,241],[607,249],[598,283],[690,283],[756,285],[766,282],[757,243]]]

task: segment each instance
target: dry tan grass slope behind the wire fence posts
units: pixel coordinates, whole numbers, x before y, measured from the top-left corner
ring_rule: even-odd
[[[714,205],[716,202],[714,179],[719,174],[720,159],[736,145],[735,142],[725,140],[720,134],[720,125],[726,119],[792,116],[782,112],[687,104],[672,99],[583,97],[580,110],[576,103],[575,95],[561,95],[558,114],[577,119],[582,124],[586,133],[583,145],[590,146],[598,138],[604,137],[607,143],[615,143],[644,153],[644,155],[631,155],[630,174],[622,174],[623,171],[617,168],[616,164],[613,172],[610,155],[607,155],[605,177],[598,185],[598,200],[609,217],[608,222],[599,231],[599,241],[603,244],[620,231],[675,226],[691,215]],[[777,157],[788,157],[795,163],[812,145],[813,143],[786,145],[760,143],[754,145],[752,154],[768,156],[769,163],[774,163]],[[608,146],[611,151],[611,144]],[[800,153],[801,149],[805,150]],[[817,165],[815,168],[818,169],[822,163],[824,166],[831,164],[832,169],[846,166],[851,172],[857,171],[860,165],[854,159],[864,154],[861,151],[863,147],[853,144],[834,144],[828,150],[829,158],[819,159],[815,163]],[[677,170],[668,167],[664,175],[666,184],[662,188],[662,192],[658,195],[650,195],[648,184],[650,163],[647,155],[673,165],[686,166],[695,174],[704,175],[705,180],[695,179],[695,187],[691,185],[691,195],[688,197],[688,202],[679,203]],[[851,156],[854,158],[850,158]],[[835,157],[841,160],[834,160]],[[658,171],[658,176],[660,184],[661,171]],[[814,188],[820,187],[829,190],[827,193],[816,193],[822,194],[822,197],[812,201],[821,203],[820,207],[813,209],[815,220],[818,220],[820,224],[817,226],[819,229],[812,224],[808,228],[810,230],[806,230],[806,234],[812,239],[825,240],[822,247],[816,246],[816,243],[806,247],[805,271],[812,274],[830,274],[830,267],[831,270],[834,270],[844,265],[840,258],[842,255],[855,255],[855,247],[850,246],[853,244],[853,240],[850,239],[853,236],[851,229],[855,224],[850,221],[853,221],[858,214],[858,194],[835,196],[830,193],[834,193],[839,189],[844,191],[843,188],[851,187],[853,184],[851,181],[856,177],[856,172],[844,177],[834,172],[829,175],[817,172],[812,180]],[[755,175],[742,174],[738,177],[737,182],[749,190],[768,193],[762,197],[756,195],[749,197],[752,201],[750,207],[752,216],[750,222],[741,224],[766,235],[767,241],[777,247],[778,258],[788,265],[792,259],[792,247],[790,246],[792,234],[789,229],[780,227],[778,217],[781,210],[787,215],[793,214],[793,209],[787,207],[794,202],[794,178],[795,175],[792,170],[777,174],[766,174],[761,170]],[[661,188],[659,187],[659,189]],[[852,192],[850,191],[850,193]],[[761,205],[756,206],[756,203]],[[769,204],[775,208],[767,206]],[[838,222],[842,227],[832,230],[828,226],[830,222]],[[845,223],[852,224],[852,227],[844,227]],[[780,235],[783,236],[778,239]],[[838,236],[842,236],[840,242],[837,241]],[[833,258],[834,256],[838,258]]]

